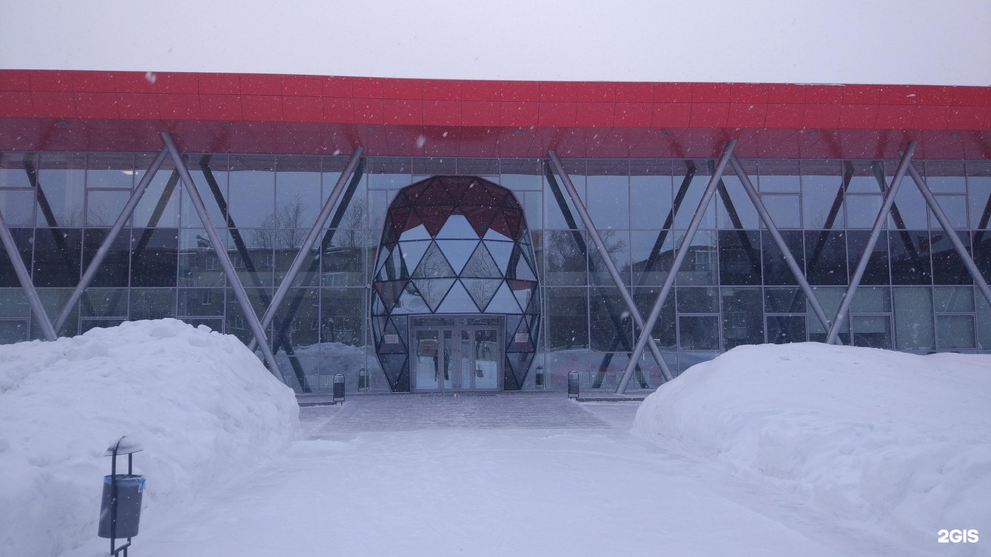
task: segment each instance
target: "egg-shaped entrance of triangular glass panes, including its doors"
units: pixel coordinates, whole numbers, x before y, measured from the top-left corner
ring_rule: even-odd
[[[476,176],[400,189],[372,285],[376,353],[392,390],[523,385],[540,299],[526,220],[508,189]]]

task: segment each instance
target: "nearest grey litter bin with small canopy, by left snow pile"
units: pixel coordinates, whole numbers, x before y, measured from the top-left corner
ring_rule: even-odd
[[[145,492],[145,477],[134,474],[134,453],[142,450],[138,443],[121,437],[103,453],[113,457],[110,476],[103,477],[103,501],[100,504],[100,526],[97,535],[110,538],[110,555],[117,555],[131,545],[131,538],[138,535],[141,519],[141,495]],[[117,457],[127,455],[127,474],[117,474]],[[117,540],[127,538],[127,543],[117,547]]]

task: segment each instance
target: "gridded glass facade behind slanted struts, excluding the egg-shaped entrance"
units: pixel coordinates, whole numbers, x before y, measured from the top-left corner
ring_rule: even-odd
[[[52,318],[153,158],[0,154],[0,211]],[[177,317],[249,341],[216,250],[231,255],[252,303],[264,313],[346,163],[343,157],[187,156],[224,238],[224,246],[213,246],[166,161],[58,333]],[[831,318],[866,246],[895,163],[742,164]],[[983,276],[991,278],[991,163],[915,164]],[[568,160],[564,165],[646,315],[671,270],[673,250],[698,208],[713,162]],[[300,390],[329,390],[332,375],[343,371],[348,390],[390,389],[370,319],[382,230],[397,192],[436,175],[490,180],[510,190],[525,214],[539,281],[533,299],[541,307],[534,314],[541,318],[534,327],[539,334],[530,373],[519,374],[525,376],[520,387],[563,389],[570,370],[578,370],[589,387],[614,386],[636,338],[567,193],[540,160],[458,158],[365,159],[267,331],[287,381]],[[825,340],[825,328],[735,176],[724,177],[703,214],[651,331],[671,369],[678,373],[740,344]],[[861,284],[839,335],[844,343],[923,353],[991,351],[991,308],[909,177]],[[0,257],[0,342],[41,337],[10,260]],[[639,364],[634,386],[660,383],[649,353]]]

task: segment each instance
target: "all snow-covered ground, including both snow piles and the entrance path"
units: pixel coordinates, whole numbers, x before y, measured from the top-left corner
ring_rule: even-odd
[[[936,531],[991,532],[989,374],[797,344],[730,351],[639,410],[560,391],[300,410],[234,337],[125,323],[0,347],[0,556],[105,556],[122,434],[145,446],[149,557],[984,555]]]

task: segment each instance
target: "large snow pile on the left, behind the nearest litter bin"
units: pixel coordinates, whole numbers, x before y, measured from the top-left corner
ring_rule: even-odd
[[[145,449],[135,455],[148,478],[145,529],[283,450],[297,423],[292,391],[205,326],[137,321],[0,346],[0,555],[103,547],[103,451],[121,435]]]

